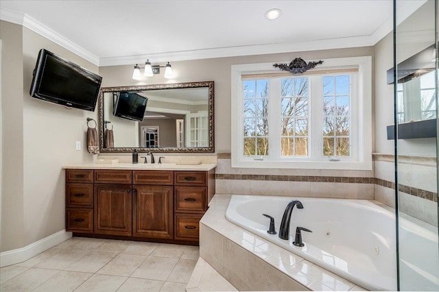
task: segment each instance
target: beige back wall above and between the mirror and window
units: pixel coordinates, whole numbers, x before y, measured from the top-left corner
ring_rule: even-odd
[[[125,86],[141,84],[163,84],[171,82],[215,82],[215,152],[230,153],[230,79],[231,65],[263,62],[289,62],[294,58],[316,60],[325,58],[342,58],[353,56],[372,56],[373,47],[352,49],[333,49],[324,51],[305,51],[300,53],[278,53],[259,56],[244,56],[233,58],[213,58],[171,62],[174,80],[167,80],[161,75],[145,77],[138,82],[132,80],[133,65],[105,66],[99,68],[99,74],[104,78],[102,86]],[[147,78],[147,79],[146,79]]]

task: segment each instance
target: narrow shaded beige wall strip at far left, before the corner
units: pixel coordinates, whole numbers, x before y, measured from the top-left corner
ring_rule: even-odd
[[[1,251],[23,247],[23,36],[21,25],[0,21]]]

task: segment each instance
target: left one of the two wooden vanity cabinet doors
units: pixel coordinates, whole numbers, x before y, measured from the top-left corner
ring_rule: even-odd
[[[132,234],[130,184],[95,184],[95,233]]]

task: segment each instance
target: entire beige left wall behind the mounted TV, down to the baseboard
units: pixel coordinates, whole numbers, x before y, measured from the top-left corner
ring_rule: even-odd
[[[97,66],[22,27],[1,22],[2,226],[1,251],[34,243],[65,228],[62,165],[91,160],[86,117],[97,112],[67,109],[29,96],[38,51],[48,49],[80,66]],[[75,150],[81,141],[82,150]]]

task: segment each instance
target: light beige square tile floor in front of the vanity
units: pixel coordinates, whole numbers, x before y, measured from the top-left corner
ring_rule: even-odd
[[[185,291],[198,246],[73,237],[0,269],[0,291]]]

